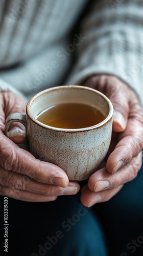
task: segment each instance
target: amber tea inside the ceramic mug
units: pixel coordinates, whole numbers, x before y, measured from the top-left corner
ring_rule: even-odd
[[[91,105],[62,103],[45,109],[36,119],[41,123],[53,127],[80,129],[102,122],[105,116]]]

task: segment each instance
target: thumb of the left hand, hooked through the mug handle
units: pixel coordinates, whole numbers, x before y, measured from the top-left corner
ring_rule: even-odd
[[[8,117],[13,113],[26,113],[27,102],[22,97],[15,95],[13,93],[6,93],[6,110],[5,116]],[[26,139],[26,128],[20,122],[13,122],[7,132],[8,138],[10,138],[14,143],[20,144]]]

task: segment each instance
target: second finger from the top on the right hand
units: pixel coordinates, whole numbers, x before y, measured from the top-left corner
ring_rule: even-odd
[[[142,138],[143,125],[138,120],[129,119],[126,131],[118,137],[119,142],[108,157],[106,168],[109,173],[115,173],[137,156],[143,147]]]

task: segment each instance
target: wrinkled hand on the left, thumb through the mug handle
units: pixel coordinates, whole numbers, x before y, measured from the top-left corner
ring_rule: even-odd
[[[36,159],[15,144],[26,138],[23,125],[14,123],[9,138],[4,135],[7,116],[16,112],[25,114],[25,110],[23,98],[11,92],[0,93],[0,195],[45,202],[53,201],[60,195],[76,194],[79,184],[69,182],[60,167]]]

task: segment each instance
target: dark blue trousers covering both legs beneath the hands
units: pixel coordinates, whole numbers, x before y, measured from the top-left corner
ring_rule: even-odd
[[[109,202],[91,209],[82,206],[80,193],[47,203],[8,198],[7,254],[2,196],[0,205],[0,255],[143,255],[143,168]]]

